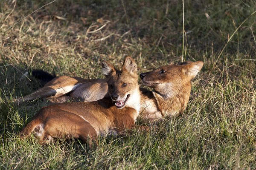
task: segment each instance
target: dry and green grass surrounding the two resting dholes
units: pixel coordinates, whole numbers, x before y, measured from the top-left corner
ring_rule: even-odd
[[[47,105],[12,102],[39,88],[23,74],[101,78],[102,59],[120,68],[126,55],[139,72],[180,62],[182,1],[67,0],[35,11],[49,2],[0,1],[0,169],[256,169],[254,0],[185,1],[184,57],[204,61],[185,113],[90,151],[79,140],[20,141]]]

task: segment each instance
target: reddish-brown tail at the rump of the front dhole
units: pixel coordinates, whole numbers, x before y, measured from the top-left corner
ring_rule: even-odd
[[[20,138],[26,138],[31,135],[31,133],[35,131],[41,131],[40,122],[37,119],[33,119],[29,122],[23,130],[20,131]]]

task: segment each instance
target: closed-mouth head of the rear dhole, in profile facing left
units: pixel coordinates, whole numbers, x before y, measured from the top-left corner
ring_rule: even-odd
[[[175,91],[190,83],[203,67],[204,62],[183,62],[180,65],[165,65],[140,74],[144,85],[159,92]],[[190,85],[190,84],[189,84]]]

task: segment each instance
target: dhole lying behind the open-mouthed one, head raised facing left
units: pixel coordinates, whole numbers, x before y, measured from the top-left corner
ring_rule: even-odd
[[[164,116],[183,112],[189,101],[191,80],[203,65],[201,61],[188,61],[180,65],[165,65],[140,74],[143,84],[154,89],[153,91],[140,89],[142,118],[159,120]],[[105,79],[89,80],[62,76],[52,79],[43,88],[18,101],[46,97],[52,102],[66,102],[69,99],[90,102],[108,97],[107,91],[108,85]]]

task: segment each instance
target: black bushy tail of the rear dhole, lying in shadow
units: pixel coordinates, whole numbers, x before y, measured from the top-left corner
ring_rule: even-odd
[[[55,73],[52,74],[47,73],[43,70],[33,70],[32,76],[34,76],[36,79],[40,80],[40,85],[43,87],[47,82],[51,81],[56,77]]]

